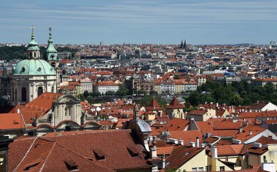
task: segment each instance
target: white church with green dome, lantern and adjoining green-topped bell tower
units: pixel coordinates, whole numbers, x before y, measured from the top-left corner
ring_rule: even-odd
[[[51,37],[48,40],[48,48],[46,50],[46,58],[51,62],[57,61],[57,51],[53,46]],[[49,45],[50,44],[50,45]],[[33,99],[42,95],[44,92],[56,93],[57,91],[57,73],[56,65],[48,63],[42,59],[39,47],[35,41],[33,32],[31,40],[28,42],[27,59],[19,61],[12,69],[11,75],[11,104],[26,104]]]

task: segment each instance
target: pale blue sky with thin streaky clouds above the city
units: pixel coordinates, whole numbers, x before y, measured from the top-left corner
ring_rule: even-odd
[[[276,0],[0,0],[0,43],[269,44]]]

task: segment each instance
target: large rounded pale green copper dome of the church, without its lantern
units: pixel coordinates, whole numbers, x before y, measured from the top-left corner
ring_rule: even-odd
[[[55,69],[44,59],[24,59],[12,70],[13,75],[56,75]]]

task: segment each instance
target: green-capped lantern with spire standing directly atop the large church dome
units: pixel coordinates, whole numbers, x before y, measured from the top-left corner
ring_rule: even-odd
[[[28,42],[27,57],[28,59],[39,59],[39,47],[37,46],[37,42],[35,41],[34,26],[30,28],[32,29],[32,34],[30,37],[30,41]]]

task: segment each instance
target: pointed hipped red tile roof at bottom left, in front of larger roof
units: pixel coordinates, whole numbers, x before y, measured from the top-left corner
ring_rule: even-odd
[[[26,153],[22,162],[15,169],[16,171],[71,171],[69,166],[76,166],[78,171],[107,171],[104,166],[70,151],[56,142],[37,138],[30,150]]]

